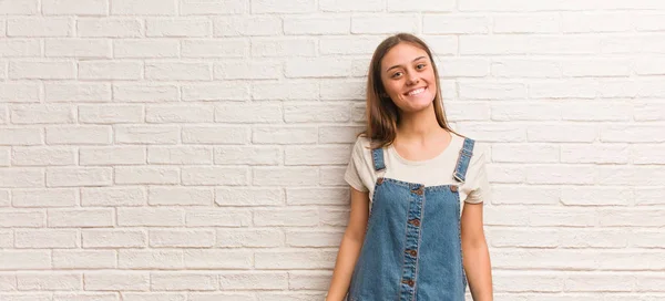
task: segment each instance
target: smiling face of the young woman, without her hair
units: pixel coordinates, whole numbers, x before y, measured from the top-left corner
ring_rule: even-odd
[[[437,81],[427,52],[411,43],[399,43],[381,60],[381,83],[402,112],[416,112],[432,104]]]

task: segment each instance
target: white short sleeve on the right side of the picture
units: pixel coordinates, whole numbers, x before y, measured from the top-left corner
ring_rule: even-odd
[[[479,147],[478,150],[473,152],[473,156],[469,164],[469,172],[467,177],[467,185],[469,186],[469,195],[467,196],[466,203],[480,204],[489,201],[490,195],[490,183],[488,180],[487,167],[485,167],[485,150]]]

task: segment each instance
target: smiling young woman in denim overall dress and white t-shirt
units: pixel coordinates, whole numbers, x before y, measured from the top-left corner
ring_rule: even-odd
[[[327,301],[492,300],[483,233],[483,152],[447,123],[439,73],[419,38],[374,53],[367,128],[345,174],[351,211]],[[468,281],[468,282],[467,282]]]

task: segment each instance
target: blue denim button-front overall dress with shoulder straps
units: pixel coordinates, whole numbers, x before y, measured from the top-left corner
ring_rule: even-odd
[[[464,138],[456,184],[424,187],[382,176],[383,149],[372,149],[372,206],[347,301],[463,301],[459,184],[474,141]]]

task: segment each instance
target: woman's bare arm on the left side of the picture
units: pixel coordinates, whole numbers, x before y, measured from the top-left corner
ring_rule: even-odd
[[[344,238],[337,253],[332,280],[326,301],[342,301],[351,282],[354,267],[365,241],[365,230],[369,218],[369,193],[351,189],[351,211]]]

